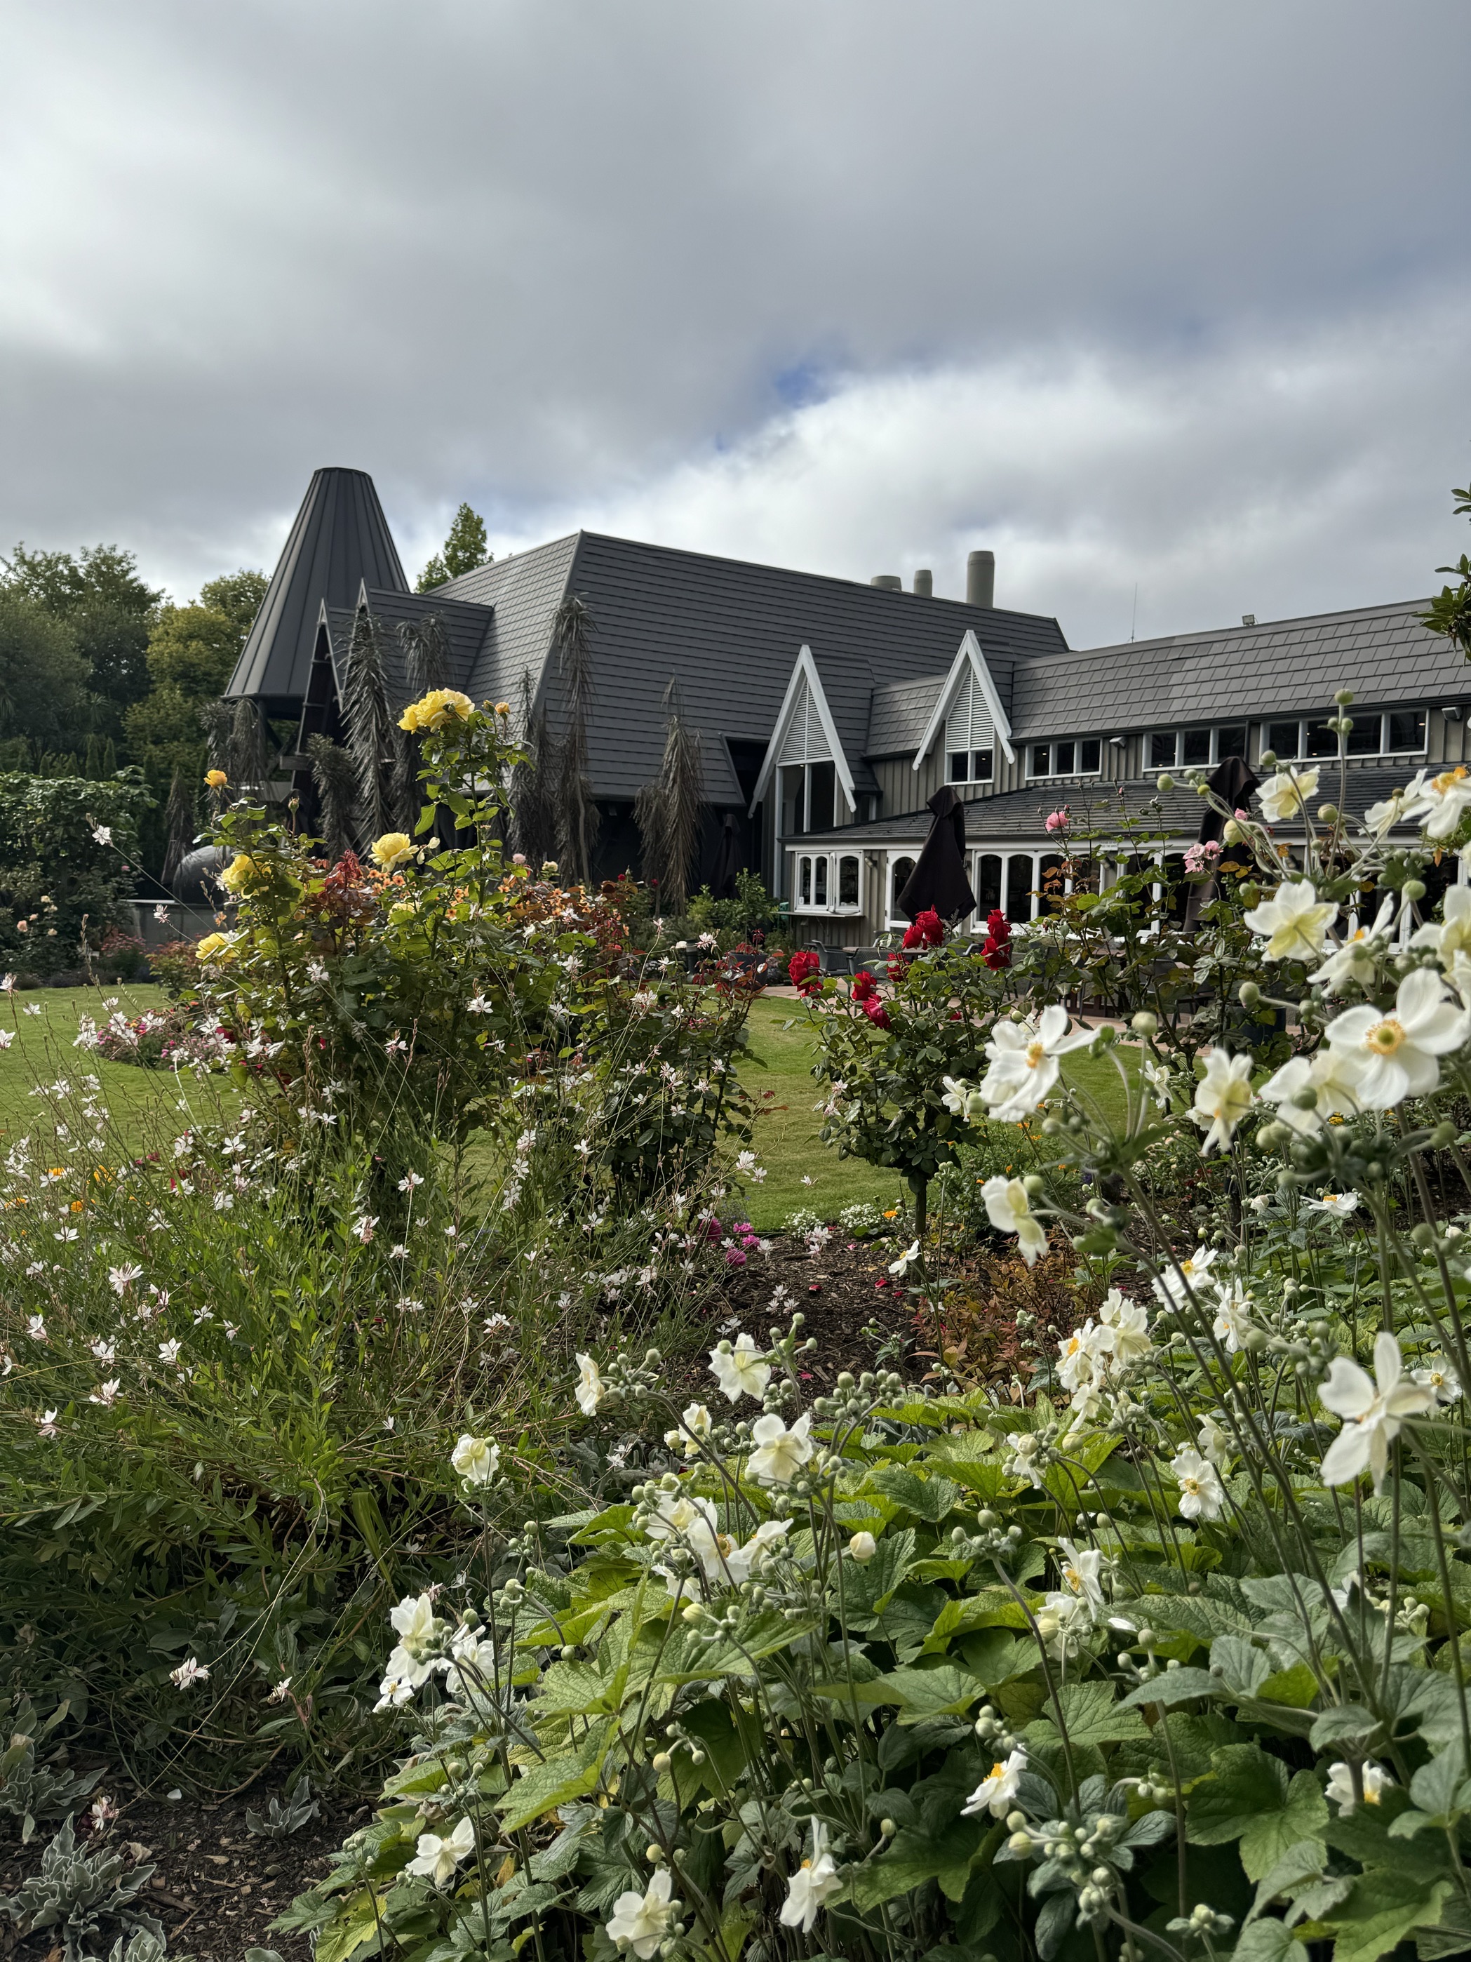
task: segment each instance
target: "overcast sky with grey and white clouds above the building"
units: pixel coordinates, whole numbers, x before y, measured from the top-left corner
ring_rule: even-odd
[[[0,0],[0,542],[177,594],[316,465],[1075,645],[1471,540],[1465,0]],[[4,547],[0,547],[4,549]]]

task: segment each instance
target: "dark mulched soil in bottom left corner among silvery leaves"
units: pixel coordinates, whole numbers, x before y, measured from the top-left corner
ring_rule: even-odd
[[[122,1809],[106,1829],[106,1846],[126,1852],[129,1864],[147,1862],[157,1868],[145,1895],[169,1936],[169,1962],[177,1956],[241,1962],[247,1948],[275,1948],[284,1962],[310,1962],[312,1944],[304,1935],[267,1935],[267,1927],[292,1895],[326,1874],[328,1854],[369,1817],[367,1807],[324,1805],[320,1817],[308,1819],[288,1838],[275,1840],[245,1827],[247,1811],[263,1815],[267,1809],[271,1793],[259,1785],[214,1807],[188,1799],[173,1805],[145,1797],[129,1801],[106,1780],[100,1789]],[[84,1817],[78,1811],[76,1836],[82,1842]],[[37,1870],[53,1833],[53,1823],[37,1827],[31,1844],[22,1846],[20,1831],[8,1823],[0,1838],[0,1893],[10,1893]],[[104,1936],[104,1954],[114,1933]],[[14,1956],[14,1962],[61,1962],[61,1948],[49,1931],[18,1942],[14,1927],[0,1921],[0,1956]]]

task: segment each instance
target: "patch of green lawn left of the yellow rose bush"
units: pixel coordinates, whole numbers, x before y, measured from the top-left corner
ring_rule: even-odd
[[[104,1003],[112,1007],[104,1008]],[[88,1050],[75,1048],[80,1018],[90,1014],[102,1024],[116,1010],[139,1016],[147,1008],[169,1007],[161,987],[59,987],[29,989],[0,999],[0,1028],[14,1028],[14,1044],[0,1052],[0,1148],[33,1130],[43,1101],[37,1085],[57,1081],[80,1087],[80,1079],[96,1075],[112,1112],[114,1142],[122,1154],[151,1152],[167,1146],[188,1122],[208,1122],[220,1114],[220,1095],[231,1097],[218,1079],[202,1081],[184,1071],[175,1083],[171,1069],[137,1069],[133,1063],[108,1063]],[[39,1014],[27,1012],[39,1008]],[[178,1109],[178,1099],[188,1110]]]

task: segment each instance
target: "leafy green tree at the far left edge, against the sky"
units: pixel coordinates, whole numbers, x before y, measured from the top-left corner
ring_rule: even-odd
[[[88,669],[90,722],[104,736],[120,736],[129,704],[151,685],[149,624],[163,593],[143,585],[133,553],[118,545],[80,553],[16,545],[0,565],[4,587],[71,630]]]

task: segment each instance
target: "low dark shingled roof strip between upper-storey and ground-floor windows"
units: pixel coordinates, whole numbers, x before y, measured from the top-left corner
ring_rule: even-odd
[[[1318,793],[1308,799],[1308,808],[1338,799],[1338,765],[1318,765]],[[1408,783],[1412,771],[1404,769],[1349,769],[1345,808],[1349,816],[1361,818],[1369,804],[1379,804],[1393,791]],[[971,797],[965,800],[965,842],[967,846],[990,844],[1057,844],[1047,836],[1045,820],[1053,810],[1067,806],[1073,832],[1108,830],[1128,818],[1143,822],[1179,838],[1194,838],[1204,814],[1202,800],[1183,783],[1171,791],[1155,789],[1153,777],[1132,779],[1112,785],[1069,785],[1049,783],[1045,789],[1006,791],[1000,797]],[[875,818],[871,824],[849,824],[832,832],[810,832],[802,840],[788,838],[788,846],[806,850],[808,846],[832,850],[836,846],[906,846],[920,844],[930,834],[934,818],[928,810],[910,810],[902,818]],[[1402,826],[1414,832],[1414,826]],[[1293,834],[1291,824],[1279,824],[1285,836]]]

